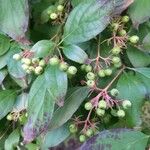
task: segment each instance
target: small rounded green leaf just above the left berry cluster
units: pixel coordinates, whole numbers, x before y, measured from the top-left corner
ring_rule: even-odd
[[[32,48],[31,52],[34,53],[35,57],[45,57],[48,54],[52,54],[55,44],[50,40],[38,41]]]

